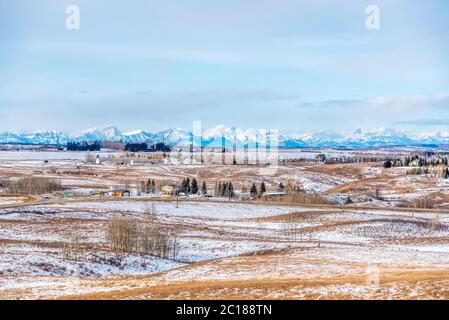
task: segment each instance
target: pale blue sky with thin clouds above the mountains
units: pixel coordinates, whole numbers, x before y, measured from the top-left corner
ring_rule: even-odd
[[[448,12],[446,0],[0,0],[0,132],[447,131]]]

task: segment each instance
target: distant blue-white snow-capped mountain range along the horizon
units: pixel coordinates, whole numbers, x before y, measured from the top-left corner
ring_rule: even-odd
[[[258,141],[260,146],[265,145],[266,137],[270,136],[271,145],[281,148],[377,148],[392,146],[441,146],[449,145],[449,132],[405,134],[391,129],[376,131],[363,131],[361,129],[349,134],[320,131],[306,134],[282,134],[277,137],[273,132],[219,125],[205,130],[202,137],[193,137],[195,143],[204,146],[221,146],[222,137],[226,144],[235,143],[241,147],[245,144],[254,146]],[[191,133],[183,129],[168,129],[157,133],[144,130],[122,132],[115,126],[92,128],[76,133],[63,133],[61,131],[42,131],[37,133],[0,132],[0,144],[52,144],[63,145],[68,141],[123,141],[123,142],[164,142],[171,146],[185,145],[190,142]]]

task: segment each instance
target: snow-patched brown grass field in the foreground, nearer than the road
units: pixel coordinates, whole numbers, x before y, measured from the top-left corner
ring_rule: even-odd
[[[110,290],[126,296],[135,286],[146,292],[144,297],[151,297],[158,286],[185,284],[183,290],[165,296],[180,298],[192,281],[224,282],[228,287],[232,281],[250,279],[246,288],[232,292],[243,297],[326,298],[346,290],[351,297],[364,292],[370,297],[369,288],[360,283],[367,268],[375,267],[387,278],[404,270],[429,274],[449,270],[449,215],[412,211],[226,202],[181,202],[177,208],[174,202],[155,201],[154,223],[177,235],[176,261],[112,252],[105,237],[109,221],[145,223],[145,206],[142,201],[122,200],[1,210],[0,286],[5,297],[101,295]],[[76,260],[64,254],[64,246],[75,239],[83,244],[82,258]],[[137,284],[144,275],[147,282]],[[350,280],[354,277],[355,282]],[[348,280],[339,285],[340,278]],[[291,286],[279,290],[280,279]],[[320,281],[322,287],[306,285],[306,280]],[[251,289],[257,281],[266,285],[274,281],[273,288],[258,293]],[[26,293],[24,287],[29,288]],[[223,297],[226,292],[211,294]]]

